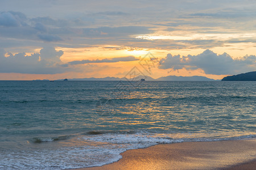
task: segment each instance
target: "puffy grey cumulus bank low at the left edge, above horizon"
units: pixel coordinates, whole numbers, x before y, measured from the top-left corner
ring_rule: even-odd
[[[40,53],[29,55],[6,53],[2,49],[0,50],[0,73],[56,74],[70,71],[70,68],[61,66],[60,56],[62,55],[63,51],[56,51],[53,47],[45,47],[40,50]]]

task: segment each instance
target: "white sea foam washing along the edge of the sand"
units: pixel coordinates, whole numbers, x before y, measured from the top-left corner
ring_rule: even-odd
[[[220,141],[255,138],[245,135],[232,138],[171,138],[170,134],[103,133],[72,138],[73,146],[55,150],[0,150],[1,169],[66,169],[101,166],[121,159],[122,152],[159,143]],[[51,140],[49,140],[51,141]],[[55,142],[55,141],[52,141]],[[79,143],[84,142],[84,145]],[[42,144],[38,144],[42,145]]]

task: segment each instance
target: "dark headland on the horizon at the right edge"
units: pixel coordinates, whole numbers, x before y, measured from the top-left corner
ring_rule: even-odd
[[[221,81],[256,81],[256,71],[226,76]]]

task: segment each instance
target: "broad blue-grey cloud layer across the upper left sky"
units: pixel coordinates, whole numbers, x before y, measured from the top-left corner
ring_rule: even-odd
[[[97,15],[124,16],[127,14],[121,11],[106,11],[97,12]],[[123,43],[122,41],[126,41],[124,40],[125,38],[130,38],[131,35],[154,32],[151,30],[153,27],[133,26],[130,24],[129,26],[115,25],[114,27],[88,28],[86,27],[86,23],[89,20],[92,22],[97,17],[90,16],[90,18],[92,19],[88,19],[87,16],[73,19],[53,19],[49,16],[27,18],[21,12],[2,12],[0,14],[0,37],[12,38],[11,44],[16,45],[18,45],[16,43],[17,40],[22,40],[24,43],[32,40],[35,41],[35,44],[38,44],[40,41],[41,43],[59,42],[59,46],[65,46],[69,44],[67,41],[76,40],[72,41],[72,46],[77,47],[81,43],[90,45],[106,44],[106,42],[119,44]],[[137,41],[135,38],[130,40]],[[0,44],[1,41],[3,40],[0,40]],[[61,41],[65,41],[65,43],[63,44]],[[23,46],[27,46],[24,43]],[[40,46],[43,46],[43,44]]]

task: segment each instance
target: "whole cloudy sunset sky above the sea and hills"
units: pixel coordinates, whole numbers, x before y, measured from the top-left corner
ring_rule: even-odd
[[[256,70],[256,0],[0,0],[0,80]],[[136,75],[138,75],[136,73]]]

